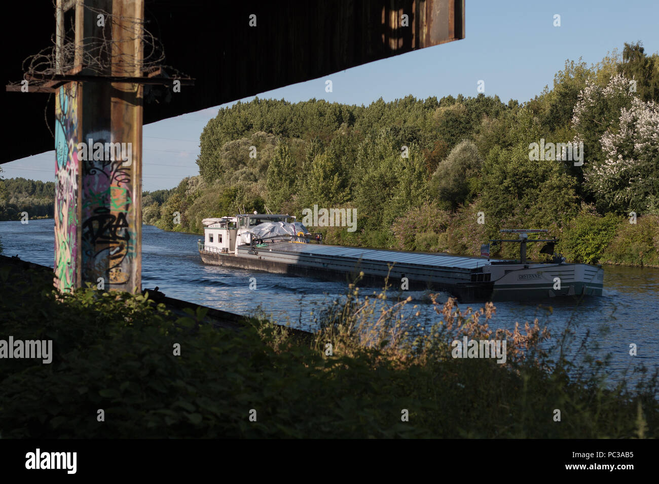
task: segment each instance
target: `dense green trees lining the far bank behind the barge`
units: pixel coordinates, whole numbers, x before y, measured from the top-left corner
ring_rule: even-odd
[[[204,128],[200,176],[145,193],[144,222],[201,233],[205,217],[356,207],[357,231],[313,230],[329,244],[479,255],[502,228],[545,228],[571,261],[659,265],[648,236],[659,225],[658,102],[659,55],[638,43],[598,65],[566,62],[525,103],[239,102]],[[538,157],[533,143],[546,147]],[[559,159],[568,143],[573,159]]]

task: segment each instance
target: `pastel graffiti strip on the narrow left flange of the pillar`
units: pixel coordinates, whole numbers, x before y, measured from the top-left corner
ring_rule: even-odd
[[[55,96],[55,286],[76,285],[78,255],[78,85],[61,86]]]

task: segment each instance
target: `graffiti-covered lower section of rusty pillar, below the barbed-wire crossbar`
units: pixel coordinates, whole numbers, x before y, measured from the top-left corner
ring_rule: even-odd
[[[100,288],[99,279],[103,288],[141,286],[141,91],[129,86],[130,103],[113,97],[120,87],[69,83],[57,92],[55,286],[63,291]]]

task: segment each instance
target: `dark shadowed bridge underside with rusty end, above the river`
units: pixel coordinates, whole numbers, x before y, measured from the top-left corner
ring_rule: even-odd
[[[5,18],[25,19],[30,26],[20,41],[13,30],[3,31],[3,45],[11,45],[3,51],[6,81],[22,78],[24,59],[52,45],[49,6],[39,14],[30,2],[3,7]],[[248,24],[250,14],[256,15],[256,27]],[[403,14],[409,15],[408,26]],[[195,79],[194,88],[184,86],[176,95],[161,92],[158,103],[147,94],[145,123],[465,37],[464,0],[146,0],[144,19],[164,46],[165,63]],[[155,94],[158,88],[148,90]],[[55,96],[3,96],[11,113],[5,139],[14,142],[5,144],[0,163],[53,149]]]

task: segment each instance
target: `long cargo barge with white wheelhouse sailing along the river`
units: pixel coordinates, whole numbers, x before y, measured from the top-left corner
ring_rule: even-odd
[[[490,259],[447,254],[426,254],[329,246],[314,240],[295,217],[242,214],[204,219],[204,240],[198,250],[206,264],[266,271],[392,290],[448,292],[461,302],[482,300],[538,300],[565,296],[601,296],[604,269],[581,263],[526,260],[529,233],[546,230],[502,230],[516,239],[491,240],[520,244],[520,259]],[[316,237],[317,238],[317,237]],[[489,255],[489,244],[483,246]]]

